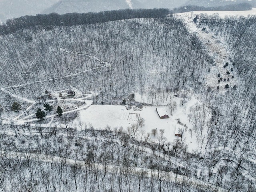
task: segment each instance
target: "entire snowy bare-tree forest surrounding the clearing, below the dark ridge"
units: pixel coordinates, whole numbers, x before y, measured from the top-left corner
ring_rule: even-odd
[[[3,191],[256,190],[255,17],[200,15],[190,25],[172,16],[24,23],[0,36]],[[222,46],[225,61],[216,48]],[[63,128],[12,118],[17,99],[26,98],[16,110],[29,109],[42,92],[70,86],[93,92],[93,104],[121,104],[138,93],[148,97],[146,105],[174,108],[174,97],[180,106],[194,97],[200,103],[184,116],[198,149],[188,151],[185,139],[166,140],[161,127],[136,137],[122,127],[68,126],[66,114],[51,119]]]

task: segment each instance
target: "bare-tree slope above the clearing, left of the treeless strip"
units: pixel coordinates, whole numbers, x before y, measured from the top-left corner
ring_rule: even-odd
[[[202,74],[212,65],[196,36],[190,36],[174,18],[53,26],[50,30],[35,26],[0,38],[2,86],[14,89],[12,85],[17,83],[70,75],[47,82],[50,85],[18,88],[20,94],[29,89],[32,98],[42,88],[52,90],[64,84],[110,98],[135,90],[150,91],[152,97],[157,92],[170,94],[190,87],[200,92]],[[109,63],[107,72],[84,73],[102,65],[98,60]]]

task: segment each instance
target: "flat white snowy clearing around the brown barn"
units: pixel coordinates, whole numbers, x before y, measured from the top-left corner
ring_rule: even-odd
[[[145,126],[142,129],[138,128],[136,138],[139,140],[142,135],[142,130],[144,131],[144,136],[146,133],[151,133],[152,129],[157,129],[158,133],[160,129],[164,130],[164,136],[166,137],[167,142],[174,142],[175,134],[178,134],[178,130],[183,129],[184,133],[182,134],[182,140],[188,144],[188,150],[192,152],[192,150],[196,150],[199,148],[199,144],[196,141],[196,133],[189,132],[189,129],[193,130],[193,126],[191,121],[188,121],[187,114],[188,109],[193,107],[196,103],[199,103],[198,100],[192,98],[188,101],[184,106],[179,105],[180,98],[175,98],[177,102],[177,109],[174,110],[173,116],[168,112],[168,107],[143,107],[141,111],[134,110],[134,107],[131,110],[127,110],[125,106],[115,106],[115,105],[91,105],[86,110],[80,111],[80,121],[85,124],[92,124],[96,129],[104,129],[106,126],[110,126],[112,130],[114,128],[123,127],[123,129],[127,132],[127,128],[131,127],[132,124],[136,123],[138,118],[145,119]],[[168,113],[170,118],[160,119],[156,108],[164,108]],[[185,114],[186,110],[186,114]],[[178,124],[177,119],[180,119],[180,122],[183,124]],[[78,123],[78,122],[74,122]],[[186,126],[184,126],[186,125]],[[131,132],[131,136],[133,136],[133,132]],[[154,138],[151,136],[151,139]]]

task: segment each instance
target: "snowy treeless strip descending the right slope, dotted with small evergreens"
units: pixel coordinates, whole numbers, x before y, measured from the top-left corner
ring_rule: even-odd
[[[202,28],[198,28],[194,23],[193,18],[183,16],[182,14],[178,17],[182,19],[190,34],[196,35],[199,38],[205,47],[207,54],[214,61],[210,71],[204,77],[206,80],[205,85],[213,89],[216,89],[217,86],[219,86],[220,90],[226,90],[226,84],[228,84],[230,88],[234,87],[234,85],[238,83],[238,75],[236,71],[232,69],[232,62],[230,61],[231,57],[226,45],[213,33],[210,33],[207,30],[203,31]],[[228,66],[224,68],[226,63],[228,63]],[[230,74],[227,74],[227,72]],[[220,75],[219,77],[218,74]],[[234,77],[232,78],[232,76]],[[222,80],[220,80],[220,78],[222,78]],[[220,80],[220,82],[218,82],[218,80]]]

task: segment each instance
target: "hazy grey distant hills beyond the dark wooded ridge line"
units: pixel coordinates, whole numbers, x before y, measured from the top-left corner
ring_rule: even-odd
[[[256,6],[256,0],[0,0],[0,24],[7,19],[25,15],[48,14],[56,12],[86,13],[126,8],[168,8],[180,6],[216,7],[249,2]],[[238,9],[238,8],[236,8]]]

